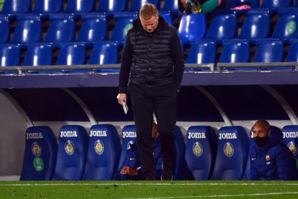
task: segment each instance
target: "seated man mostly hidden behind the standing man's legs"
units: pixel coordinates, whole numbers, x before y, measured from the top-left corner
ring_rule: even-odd
[[[160,138],[157,131],[157,125],[152,123],[152,148],[153,156],[156,163],[156,180],[160,180],[162,168],[161,168],[161,153],[160,153]],[[142,165],[138,153],[137,142],[130,144],[130,149],[124,158],[124,162],[115,174],[113,180],[144,180],[142,174]]]

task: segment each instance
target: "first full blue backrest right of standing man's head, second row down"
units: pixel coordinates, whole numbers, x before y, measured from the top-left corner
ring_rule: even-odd
[[[182,42],[204,38],[206,33],[207,21],[205,14],[182,15],[178,29],[178,34]]]

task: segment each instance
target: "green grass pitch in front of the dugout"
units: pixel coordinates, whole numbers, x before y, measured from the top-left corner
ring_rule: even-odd
[[[298,199],[297,181],[1,181],[1,199]]]

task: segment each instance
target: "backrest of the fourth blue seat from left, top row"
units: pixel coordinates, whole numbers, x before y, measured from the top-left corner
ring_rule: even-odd
[[[128,0],[100,0],[96,12],[123,12],[128,9]]]

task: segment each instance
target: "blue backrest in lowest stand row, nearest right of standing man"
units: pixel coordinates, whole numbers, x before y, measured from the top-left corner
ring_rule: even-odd
[[[216,45],[213,42],[196,42],[191,46],[186,59],[187,64],[215,63]]]

